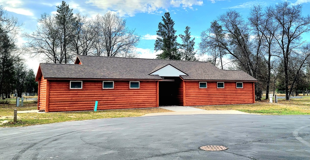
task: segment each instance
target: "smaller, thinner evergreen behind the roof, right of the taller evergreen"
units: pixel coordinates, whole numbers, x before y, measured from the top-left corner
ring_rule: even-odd
[[[185,35],[179,34],[179,37],[182,39],[182,44],[180,45],[181,49],[181,59],[182,60],[197,60],[195,54],[195,38],[191,39],[191,32],[189,31],[191,27],[185,27]]]

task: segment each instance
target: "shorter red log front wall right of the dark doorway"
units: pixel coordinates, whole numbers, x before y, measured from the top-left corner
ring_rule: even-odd
[[[236,82],[224,82],[225,88],[217,88],[217,82],[207,82],[207,88],[199,88],[198,81],[185,82],[186,106],[254,102],[253,82],[243,82],[243,88],[236,88]]]

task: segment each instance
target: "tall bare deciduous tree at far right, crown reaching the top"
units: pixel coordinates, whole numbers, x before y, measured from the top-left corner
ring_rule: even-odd
[[[274,37],[281,49],[281,60],[285,72],[285,99],[289,100],[289,57],[305,42],[301,41],[301,35],[310,31],[310,16],[302,16],[302,5],[290,7],[289,2],[268,7],[267,13],[280,24]]]

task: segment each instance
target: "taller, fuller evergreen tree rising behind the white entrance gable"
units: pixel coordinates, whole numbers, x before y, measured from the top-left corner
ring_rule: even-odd
[[[181,60],[181,55],[177,51],[177,32],[174,28],[174,21],[170,17],[170,13],[166,12],[162,16],[162,22],[158,24],[157,39],[155,41],[155,51],[163,51],[162,53],[156,55],[157,59],[166,60]]]

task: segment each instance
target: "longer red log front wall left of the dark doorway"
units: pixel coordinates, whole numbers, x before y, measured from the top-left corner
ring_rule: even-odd
[[[83,81],[83,89],[69,89],[70,81],[50,80],[49,112],[156,107],[156,82],[140,81],[140,89],[129,89],[129,81],[114,81],[114,89],[102,89],[102,81]]]

